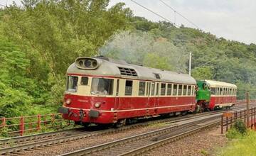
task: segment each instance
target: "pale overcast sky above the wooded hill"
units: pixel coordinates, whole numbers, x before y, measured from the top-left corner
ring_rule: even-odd
[[[20,0],[0,0],[0,4],[9,5]],[[196,28],[159,0],[134,0],[148,9],[159,13],[178,26]],[[218,38],[237,40],[242,43],[256,44],[256,1],[255,0],[162,0],[178,13],[188,18],[201,30],[212,33]],[[162,21],[159,16],[146,11],[131,0],[110,0],[110,6],[124,2],[132,9],[134,16],[142,16],[150,21]]]

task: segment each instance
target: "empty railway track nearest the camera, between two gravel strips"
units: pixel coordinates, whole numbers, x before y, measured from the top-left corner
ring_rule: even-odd
[[[183,121],[176,126],[161,128],[148,133],[134,135],[129,138],[115,140],[110,143],[104,143],[93,147],[87,147],[82,150],[69,152],[64,155],[142,155],[146,150],[170,143],[171,140],[185,137],[188,134],[196,133],[203,128],[215,126],[220,122],[218,114],[194,118]]]

